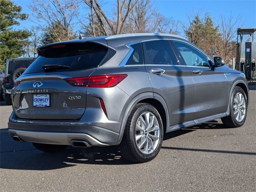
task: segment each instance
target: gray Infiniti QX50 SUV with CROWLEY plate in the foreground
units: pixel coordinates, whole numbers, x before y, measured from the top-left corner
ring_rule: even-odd
[[[167,132],[246,120],[244,74],[180,36],[82,38],[42,46],[38,55],[15,81],[8,128],[45,152],[119,145],[122,157],[147,162]]]

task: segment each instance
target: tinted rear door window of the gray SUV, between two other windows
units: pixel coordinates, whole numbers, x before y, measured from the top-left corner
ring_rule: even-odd
[[[146,64],[178,65],[174,52],[166,40],[154,40],[145,42]]]

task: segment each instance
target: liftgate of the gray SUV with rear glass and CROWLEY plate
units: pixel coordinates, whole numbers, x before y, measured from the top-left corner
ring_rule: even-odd
[[[38,58],[17,79],[20,84],[13,93],[16,116],[44,120],[81,118],[86,108],[86,86],[79,86],[83,84],[79,79],[69,83],[67,79],[90,76],[106,52],[107,47],[90,42],[42,48]]]

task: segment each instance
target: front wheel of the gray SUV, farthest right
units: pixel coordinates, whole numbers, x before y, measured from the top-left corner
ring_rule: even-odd
[[[221,118],[224,125],[230,128],[244,124],[247,114],[247,98],[241,87],[234,87],[230,100],[230,115]],[[240,115],[240,117],[239,117]]]

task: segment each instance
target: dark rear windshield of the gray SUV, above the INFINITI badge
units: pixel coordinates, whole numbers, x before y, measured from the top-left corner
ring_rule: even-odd
[[[54,71],[76,71],[97,67],[107,48],[96,43],[59,44],[42,48],[38,58],[24,74],[45,72],[44,65],[63,65],[70,68]]]

